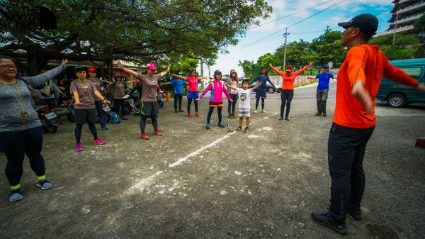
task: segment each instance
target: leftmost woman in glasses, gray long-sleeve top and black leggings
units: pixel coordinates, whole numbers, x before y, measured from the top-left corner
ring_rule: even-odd
[[[62,60],[59,67],[35,77],[16,78],[15,60],[0,55],[0,148],[7,157],[5,173],[11,185],[9,201],[22,199],[20,182],[25,155],[38,178],[36,185],[43,190],[52,187],[46,180],[41,156],[42,126],[31,104],[27,83],[33,87],[43,84],[65,70],[67,63],[68,60]]]

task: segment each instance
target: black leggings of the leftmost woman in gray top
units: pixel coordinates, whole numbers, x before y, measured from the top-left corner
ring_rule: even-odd
[[[0,148],[7,157],[4,172],[11,186],[21,182],[23,159],[30,159],[30,167],[37,176],[45,174],[44,159],[41,156],[42,126],[28,130],[0,132]]]

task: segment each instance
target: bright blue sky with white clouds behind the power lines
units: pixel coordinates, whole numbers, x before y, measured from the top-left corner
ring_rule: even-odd
[[[244,37],[239,38],[237,45],[229,46],[228,54],[220,54],[216,64],[210,66],[210,74],[220,70],[223,74],[229,74],[235,69],[242,77],[242,67],[238,67],[239,60],[256,62],[261,55],[274,53],[278,47],[284,44],[283,33],[288,28],[287,43],[300,39],[312,42],[314,38],[322,35],[327,26],[329,30],[341,30],[340,22],[350,21],[351,18],[363,13],[370,13],[378,18],[377,33],[387,30],[393,9],[393,0],[266,0],[273,7],[273,13],[266,20],[261,20],[260,26],[251,26]],[[320,6],[317,6],[322,4]],[[315,6],[315,7],[314,7]],[[329,8],[329,9],[328,9]],[[322,11],[322,12],[321,12]],[[285,17],[295,13],[293,16]],[[314,15],[316,14],[317,15]],[[314,16],[313,16],[314,15]],[[311,17],[310,17],[311,16]],[[310,18],[308,18],[310,17]],[[276,21],[276,19],[282,18]],[[305,21],[302,21],[303,19]],[[297,23],[302,21],[301,23]],[[297,23],[297,24],[295,24]],[[294,25],[295,24],[295,25]],[[294,26],[292,26],[294,25]],[[273,33],[276,33],[272,35]],[[265,38],[266,36],[270,37]],[[257,42],[259,41],[259,42]],[[257,42],[257,43],[256,43]],[[305,62],[307,65],[309,62]],[[204,75],[208,75],[208,67],[204,65]],[[200,67],[198,66],[198,72]]]

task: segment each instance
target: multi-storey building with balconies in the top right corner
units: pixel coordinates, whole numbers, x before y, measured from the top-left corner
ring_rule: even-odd
[[[412,23],[425,13],[425,0],[395,0],[393,3],[394,8],[390,11],[392,17],[388,21],[390,27],[374,35],[374,38],[394,33],[412,33],[414,30]]]

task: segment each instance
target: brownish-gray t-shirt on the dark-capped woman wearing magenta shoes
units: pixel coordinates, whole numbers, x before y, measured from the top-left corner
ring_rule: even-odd
[[[80,82],[78,79],[71,82],[71,94],[78,92],[79,101],[82,103],[81,106],[75,106],[75,109],[94,109],[94,99],[96,95],[94,91],[97,91],[91,80]]]

